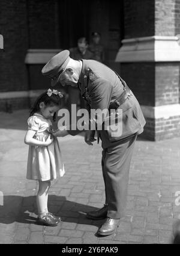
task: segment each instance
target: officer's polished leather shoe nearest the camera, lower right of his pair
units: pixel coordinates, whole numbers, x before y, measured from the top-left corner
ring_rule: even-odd
[[[98,229],[97,234],[101,236],[109,236],[116,232],[120,219],[112,219],[107,217],[103,225]]]

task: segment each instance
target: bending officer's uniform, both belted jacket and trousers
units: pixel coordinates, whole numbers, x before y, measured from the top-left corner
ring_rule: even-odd
[[[79,88],[91,109],[122,109],[121,136],[113,137],[107,130],[98,131],[103,147],[101,164],[107,217],[119,219],[124,216],[134,143],[137,134],[143,132],[145,118],[136,97],[112,69],[94,60],[82,60],[82,63]],[[76,135],[79,131],[70,130],[68,133]]]

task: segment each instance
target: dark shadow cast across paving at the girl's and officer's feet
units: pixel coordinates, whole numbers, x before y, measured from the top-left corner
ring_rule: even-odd
[[[48,208],[56,216],[61,216],[62,222],[100,226],[103,221],[94,221],[86,217],[87,212],[98,210],[98,208],[68,201],[65,196],[49,195]],[[36,224],[36,220],[36,196],[4,195],[4,202],[0,205],[0,223]]]

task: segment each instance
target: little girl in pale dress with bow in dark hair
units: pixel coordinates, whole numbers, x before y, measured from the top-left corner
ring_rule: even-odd
[[[29,145],[26,178],[38,180],[37,222],[47,226],[56,226],[61,221],[61,217],[56,217],[47,209],[50,181],[55,180],[57,175],[64,175],[58,140],[49,133],[52,126],[50,117],[55,117],[61,98],[60,92],[51,89],[38,97],[29,115],[25,136],[25,143]]]

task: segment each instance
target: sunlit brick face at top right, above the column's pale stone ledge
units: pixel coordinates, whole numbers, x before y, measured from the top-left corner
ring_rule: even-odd
[[[175,0],[155,0],[155,35],[175,36]]]

